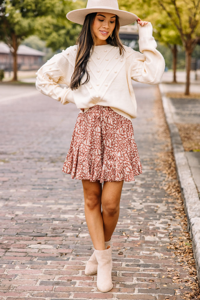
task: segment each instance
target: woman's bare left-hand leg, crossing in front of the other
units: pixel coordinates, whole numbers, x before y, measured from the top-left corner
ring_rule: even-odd
[[[105,250],[103,217],[101,213],[102,184],[82,180],[85,198],[85,219],[96,250]]]

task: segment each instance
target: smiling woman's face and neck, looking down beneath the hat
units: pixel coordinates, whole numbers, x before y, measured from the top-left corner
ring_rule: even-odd
[[[92,29],[96,36],[96,46],[108,44],[106,39],[115,28],[116,16],[114,13],[97,13]]]

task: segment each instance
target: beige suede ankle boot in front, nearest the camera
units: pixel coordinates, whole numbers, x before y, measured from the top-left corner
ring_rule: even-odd
[[[113,288],[112,284],[112,253],[111,247],[106,250],[94,250],[98,262],[97,267],[97,289],[100,292],[109,292]]]

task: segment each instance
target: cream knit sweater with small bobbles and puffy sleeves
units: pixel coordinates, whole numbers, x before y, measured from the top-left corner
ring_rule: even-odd
[[[138,25],[138,29],[141,53],[124,46],[123,57],[118,47],[94,46],[88,63],[90,80],[72,91],[59,85],[70,85],[77,49],[77,46],[71,46],[54,55],[38,70],[37,89],[62,104],[74,103],[77,108],[84,108],[84,112],[94,105],[102,105],[111,107],[127,119],[136,118],[137,105],[132,79],[158,84],[165,68],[164,58],[156,50],[151,23],[143,27]]]

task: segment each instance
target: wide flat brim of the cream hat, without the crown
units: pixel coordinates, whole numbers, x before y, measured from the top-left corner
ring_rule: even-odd
[[[85,17],[88,13],[114,13],[119,17],[120,26],[125,26],[135,22],[138,19],[134,13],[130,13],[125,10],[113,9],[108,7],[92,7],[92,8],[83,8],[83,9],[76,9],[72,10],[67,13],[66,17],[68,20],[83,25]]]

